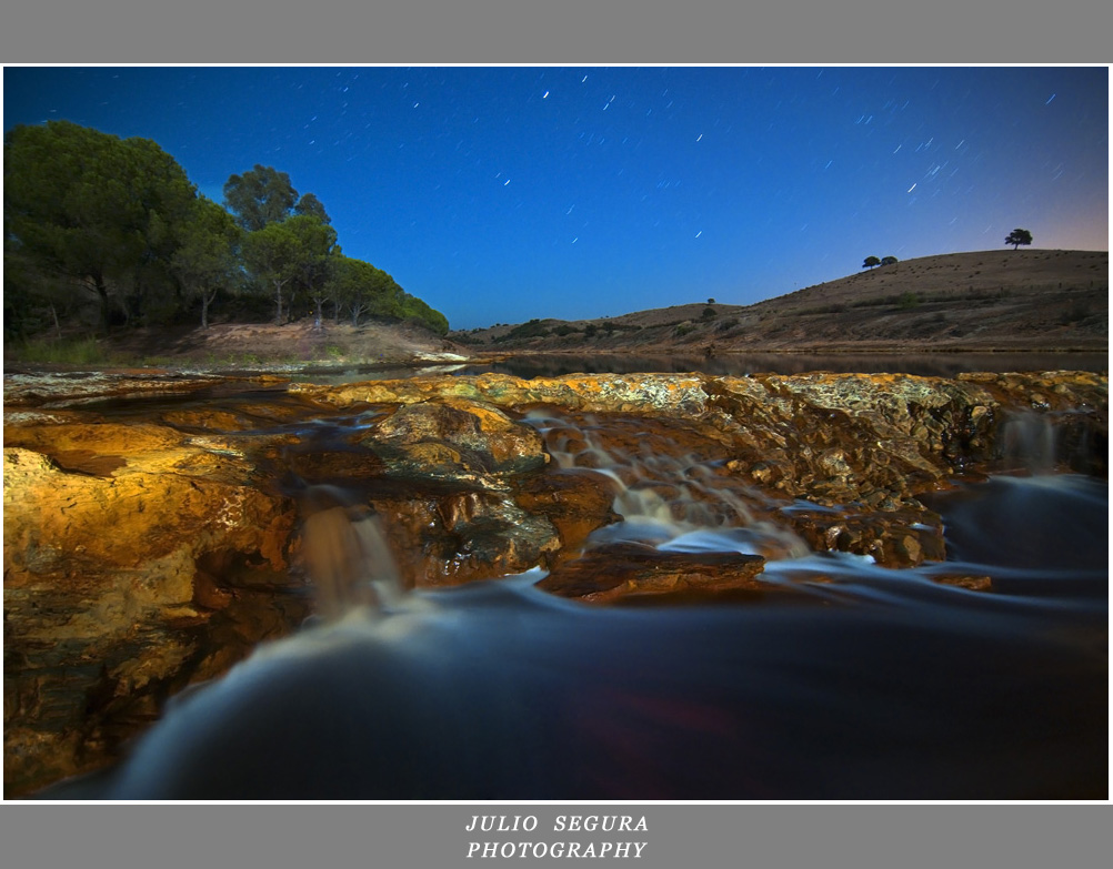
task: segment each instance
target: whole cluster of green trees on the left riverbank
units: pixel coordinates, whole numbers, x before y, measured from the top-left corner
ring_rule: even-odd
[[[4,336],[63,324],[102,329],[197,317],[218,300],[274,320],[325,308],[408,319],[439,334],[444,315],[370,263],[347,257],[323,204],[286,172],[233,175],[224,205],[199,195],[149,139],[120,139],[69,121],[4,137]]]

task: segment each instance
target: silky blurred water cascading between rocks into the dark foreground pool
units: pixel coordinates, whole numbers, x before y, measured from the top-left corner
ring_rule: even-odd
[[[540,571],[403,593],[363,493],[309,484],[333,505],[306,533],[335,618],[190,690],[127,763],[55,796],[1105,798],[1107,485],[1047,473],[1061,446],[1032,421],[1009,447],[1022,474],[929,498],[948,561],[887,570],[811,552],[784,517],[816,505],[713,460],[613,421],[525,419],[565,473],[612,486],[621,521],[589,545],[760,553],[792,593],[601,608],[538,590]],[[314,443],[366,423],[318,421]]]

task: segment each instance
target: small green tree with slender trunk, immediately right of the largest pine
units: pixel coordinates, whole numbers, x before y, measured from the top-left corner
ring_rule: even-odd
[[[193,215],[178,230],[178,248],[170,269],[183,296],[201,303],[201,328],[208,328],[209,305],[220,289],[236,283],[243,231],[224,208],[199,196]]]

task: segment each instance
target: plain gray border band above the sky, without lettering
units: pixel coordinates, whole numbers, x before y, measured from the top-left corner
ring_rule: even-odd
[[[1099,0],[37,0],[3,63],[1096,63]]]

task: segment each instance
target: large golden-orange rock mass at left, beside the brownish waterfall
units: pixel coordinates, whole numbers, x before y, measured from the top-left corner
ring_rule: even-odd
[[[232,571],[214,584],[206,561],[290,582],[292,504],[246,468],[156,426],[107,425],[102,443],[96,426],[52,428],[55,445],[6,432],[58,456],[3,451],[9,793],[102,763],[190,679],[210,649],[196,629],[235,594]]]

